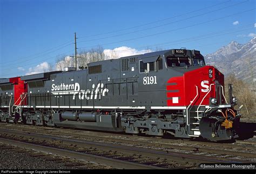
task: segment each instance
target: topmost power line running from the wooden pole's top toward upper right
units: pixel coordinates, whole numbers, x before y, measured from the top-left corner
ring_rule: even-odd
[[[89,38],[89,37],[93,37],[93,36],[97,36],[97,35],[110,34],[110,33],[116,33],[116,32],[119,32],[119,31],[130,30],[130,29],[132,29],[132,28],[137,28],[137,27],[141,27],[141,26],[146,26],[146,25],[158,23],[158,22],[160,22],[160,21],[169,20],[169,19],[172,19],[172,18],[180,17],[180,16],[185,16],[186,14],[191,14],[191,13],[193,13],[193,12],[197,12],[197,11],[205,10],[205,9],[208,9],[208,8],[212,8],[213,6],[225,4],[225,3],[230,2],[230,1],[231,1],[231,0],[225,1],[225,2],[222,2],[222,3],[218,3],[218,4],[214,4],[214,5],[210,5],[210,6],[207,6],[206,8],[202,8],[202,9],[198,9],[198,10],[193,10],[193,11],[190,11],[190,12],[187,12],[187,13],[184,13],[184,14],[178,14],[177,16],[173,16],[173,17],[169,17],[169,18],[165,18],[165,19],[153,21],[153,22],[150,22],[150,23],[142,24],[142,25],[137,25],[137,26],[133,26],[133,27],[129,27],[129,28],[124,28],[124,29],[121,29],[121,30],[115,30],[115,31],[111,31],[111,32],[106,32],[106,33],[87,35],[87,36],[79,37],[79,38]]]

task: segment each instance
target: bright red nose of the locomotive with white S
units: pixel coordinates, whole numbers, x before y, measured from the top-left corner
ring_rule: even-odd
[[[221,87],[222,86],[222,87]],[[167,106],[209,105],[210,98],[218,98],[216,88],[224,92],[224,75],[213,66],[188,71],[183,76],[172,77],[167,82]],[[222,94],[221,94],[222,95]],[[223,104],[224,99],[219,102]]]

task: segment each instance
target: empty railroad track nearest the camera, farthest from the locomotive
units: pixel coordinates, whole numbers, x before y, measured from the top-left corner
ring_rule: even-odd
[[[115,164],[117,166],[122,166],[122,168],[129,168],[129,169],[142,169],[142,168],[169,168],[170,164],[173,163],[179,163],[180,166],[178,168],[184,169],[184,168],[192,168],[197,166],[200,163],[246,163],[247,161],[242,161],[239,159],[225,159],[225,158],[219,158],[219,157],[212,157],[212,156],[203,156],[203,155],[191,155],[191,154],[184,154],[184,153],[177,153],[177,152],[172,152],[172,151],[163,151],[163,150],[154,150],[154,149],[144,149],[140,147],[129,147],[129,146],[122,146],[122,145],[116,145],[116,144],[109,144],[109,143],[102,143],[102,142],[94,142],[94,141],[86,141],[86,140],[76,140],[76,139],[66,139],[63,137],[56,137],[56,136],[51,136],[51,135],[42,135],[42,134],[36,134],[36,133],[21,133],[13,130],[8,130],[8,129],[0,129],[1,132],[1,137],[4,137],[6,139],[12,139],[11,141],[17,140],[18,141],[25,141],[26,145],[28,142],[30,144],[36,144],[36,147],[42,147],[41,149],[44,149],[44,147],[47,147],[47,149],[54,148],[53,150],[60,149],[60,153],[67,153],[66,150],[69,151],[76,151],[77,153],[82,153],[84,154],[89,151],[95,152],[97,151],[96,149],[103,150],[100,153],[97,154],[96,156],[102,157],[107,157],[107,159],[104,157],[104,161],[107,161],[110,159],[110,163],[105,163],[104,161],[100,161],[100,164],[106,164],[106,165],[112,165]],[[4,133],[3,133],[4,132]],[[2,141],[2,139],[1,139]],[[58,142],[57,144],[52,143],[52,142]],[[76,147],[73,150],[70,150],[69,148],[65,147]],[[81,149],[82,147],[82,149]],[[83,147],[86,147],[84,149]],[[65,151],[63,151],[65,150]],[[61,152],[62,151],[62,152]],[[123,157],[121,157],[120,164],[117,161],[112,162],[113,157],[115,157],[114,154],[110,154],[109,152],[115,152],[117,154],[124,154]],[[50,153],[57,153],[56,151],[51,151]],[[71,152],[70,152],[71,153]],[[82,155],[80,154],[80,155]],[[136,155],[135,155],[136,154]],[[110,155],[110,156],[109,156]],[[97,157],[94,156],[92,157],[91,154],[89,154],[90,160],[97,159]],[[143,164],[143,166],[137,166],[138,163],[134,164],[133,168],[131,165],[131,161],[133,161],[133,156],[135,157],[143,157],[145,158],[146,163]],[[109,158],[111,157],[111,158]],[[119,157],[118,157],[119,158]],[[120,159],[120,158],[119,158]],[[147,161],[147,159],[150,159],[150,162]],[[164,159],[164,162],[160,162],[157,164],[161,159]],[[96,161],[98,161],[97,159]],[[103,159],[100,159],[103,160]],[[125,161],[125,162],[124,162]],[[126,164],[126,162],[129,162]],[[125,163],[125,164],[122,164]],[[145,164],[147,166],[145,166]],[[114,167],[114,166],[113,166]],[[137,168],[138,167],[138,168]],[[177,166],[172,167],[172,169],[177,169]]]

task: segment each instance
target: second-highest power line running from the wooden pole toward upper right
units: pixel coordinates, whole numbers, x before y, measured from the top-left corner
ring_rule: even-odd
[[[244,1],[244,2],[237,3],[237,4],[228,5],[228,6],[225,6],[224,8],[220,8],[220,9],[217,9],[217,10],[212,10],[212,11],[208,11],[208,12],[205,12],[205,13],[202,13],[202,14],[197,14],[196,16],[192,16],[192,17],[188,17],[188,18],[185,18],[185,19],[180,19],[180,20],[172,21],[171,23],[157,25],[157,26],[150,27],[150,28],[144,28],[144,29],[138,30],[138,31],[132,31],[132,32],[127,32],[127,33],[123,33],[123,34],[112,35],[112,36],[104,37],[104,38],[97,38],[97,39],[91,39],[91,40],[83,40],[83,41],[79,41],[79,42],[89,42],[89,41],[95,41],[95,40],[102,40],[102,39],[114,38],[114,37],[119,37],[119,36],[122,36],[122,35],[132,34],[132,33],[138,33],[138,32],[142,32],[142,31],[146,31],[146,30],[151,30],[153,28],[158,28],[158,27],[161,27],[161,26],[166,26],[166,25],[178,23],[180,21],[184,21],[184,20],[196,18],[196,17],[199,17],[199,16],[203,16],[203,15],[208,14],[208,13],[216,12],[216,11],[227,9],[227,8],[231,8],[232,6],[240,5],[240,4],[246,3],[246,2],[248,2],[248,0]]]

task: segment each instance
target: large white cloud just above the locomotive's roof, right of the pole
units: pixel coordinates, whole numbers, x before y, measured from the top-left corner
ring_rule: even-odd
[[[119,57],[125,57],[125,56],[136,55],[136,54],[144,54],[144,53],[150,53],[150,52],[152,52],[151,49],[137,50],[137,49],[125,47],[125,46],[114,48],[114,49],[104,49],[104,55],[108,59],[117,59]]]

